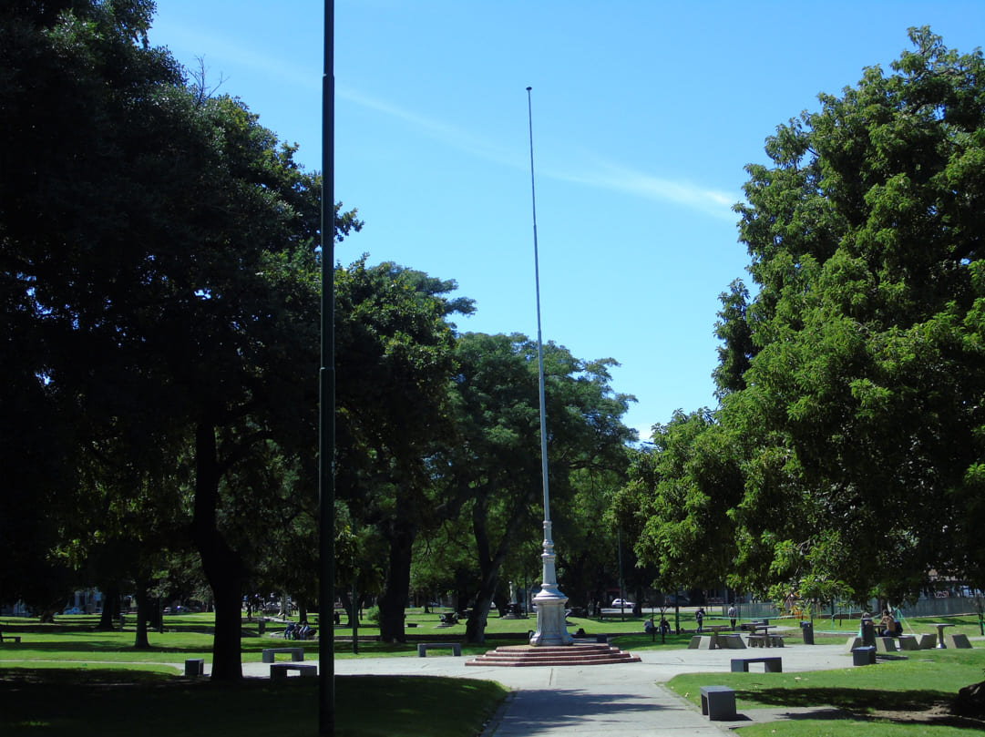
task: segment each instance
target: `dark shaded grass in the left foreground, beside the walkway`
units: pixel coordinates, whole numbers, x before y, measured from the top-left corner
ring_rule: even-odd
[[[337,677],[339,737],[472,737],[507,691],[491,681]],[[191,682],[160,673],[0,670],[0,734],[223,737],[317,734],[316,679]]]

